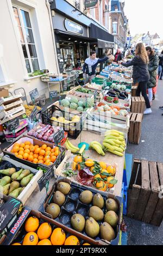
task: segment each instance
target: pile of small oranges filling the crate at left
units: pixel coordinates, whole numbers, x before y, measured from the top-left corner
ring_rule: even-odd
[[[40,147],[39,145],[31,144],[30,141],[25,141],[24,143],[15,143],[11,153],[15,154],[19,159],[50,166],[55,162],[60,151],[58,147],[51,148],[46,144]]]

